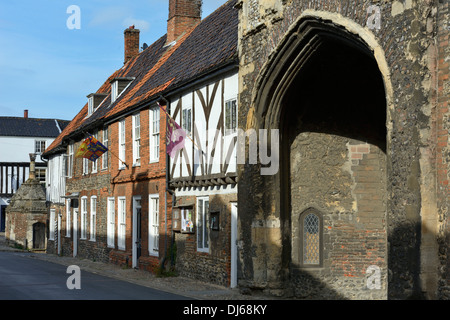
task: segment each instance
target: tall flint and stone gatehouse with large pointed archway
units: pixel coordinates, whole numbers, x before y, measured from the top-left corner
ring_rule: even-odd
[[[236,7],[239,127],[280,137],[238,167],[239,286],[448,299],[449,2]]]

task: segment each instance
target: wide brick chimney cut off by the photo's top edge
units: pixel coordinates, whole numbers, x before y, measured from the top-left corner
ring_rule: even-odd
[[[169,0],[167,43],[175,41],[202,19],[202,0]]]

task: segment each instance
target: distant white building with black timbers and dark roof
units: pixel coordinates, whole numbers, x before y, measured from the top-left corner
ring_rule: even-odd
[[[5,231],[5,209],[29,176],[30,153],[35,153],[36,177],[45,183],[47,164],[41,159],[69,122],[58,119],[0,117],[0,232]]]

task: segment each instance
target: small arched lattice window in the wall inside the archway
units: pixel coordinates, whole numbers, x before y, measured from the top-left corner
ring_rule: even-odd
[[[314,209],[300,215],[300,263],[303,267],[322,266],[322,216]]]

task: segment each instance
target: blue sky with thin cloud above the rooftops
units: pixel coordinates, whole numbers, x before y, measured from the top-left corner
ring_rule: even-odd
[[[203,0],[203,18],[226,0]],[[86,95],[123,65],[123,31],[141,46],[166,33],[168,0],[14,0],[0,2],[0,116],[71,120]],[[69,29],[67,8],[80,8]]]

